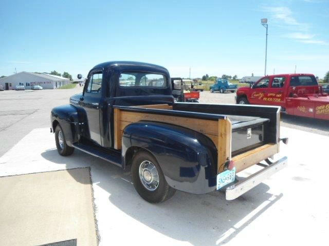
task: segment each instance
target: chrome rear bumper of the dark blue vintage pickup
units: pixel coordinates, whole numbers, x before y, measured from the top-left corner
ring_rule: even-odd
[[[287,164],[288,158],[285,156],[257,173],[250,175],[246,179],[229,186],[226,188],[226,200],[233,200],[255,186],[258,186],[264,179],[270,177],[281,169],[286,168]]]

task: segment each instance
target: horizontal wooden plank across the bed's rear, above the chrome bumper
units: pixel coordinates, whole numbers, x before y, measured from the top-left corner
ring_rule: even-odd
[[[260,161],[265,160],[269,156],[277,154],[278,149],[278,144],[267,144],[234,156],[232,160],[234,160],[235,163],[235,172],[241,172],[242,170],[257,164]]]

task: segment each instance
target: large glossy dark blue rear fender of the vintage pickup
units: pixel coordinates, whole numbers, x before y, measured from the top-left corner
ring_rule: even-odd
[[[171,124],[139,121],[123,131],[122,159],[136,147],[154,155],[169,186],[194,194],[215,189],[217,151],[207,136]]]

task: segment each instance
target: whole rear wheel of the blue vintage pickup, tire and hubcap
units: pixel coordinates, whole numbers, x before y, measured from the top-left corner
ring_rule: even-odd
[[[136,191],[148,202],[166,201],[176,192],[168,185],[157,160],[146,151],[134,155],[131,172]]]

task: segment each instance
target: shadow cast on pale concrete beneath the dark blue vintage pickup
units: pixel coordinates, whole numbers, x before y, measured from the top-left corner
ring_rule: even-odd
[[[283,196],[268,193],[269,187],[261,183],[233,201],[225,200],[225,194],[222,192],[193,195],[177,191],[170,200],[151,204],[137,194],[129,171],[80,151],[69,157],[60,156],[56,149],[45,151],[41,155],[53,163],[65,163],[67,169],[88,166],[91,168],[98,207],[97,219],[102,225],[99,228],[101,237],[102,232],[109,232],[111,228],[121,224],[122,216],[130,216],[175,240],[192,245],[222,245],[242,232]],[[98,187],[108,193],[108,204],[105,206],[97,205]],[[123,214],[117,216],[108,212],[112,211],[112,206],[120,209]],[[125,226],[125,231],[130,230],[127,227],[129,225]],[[108,244],[107,241],[111,240],[111,237],[105,238]]]

